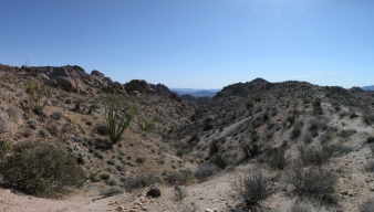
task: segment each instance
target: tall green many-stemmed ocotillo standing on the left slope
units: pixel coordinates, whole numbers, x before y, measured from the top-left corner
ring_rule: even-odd
[[[125,129],[129,126],[133,115],[126,107],[124,98],[121,96],[106,96],[105,120],[110,139],[113,144],[117,142]]]

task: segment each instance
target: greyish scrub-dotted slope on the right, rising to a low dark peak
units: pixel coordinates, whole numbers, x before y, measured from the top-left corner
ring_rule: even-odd
[[[359,88],[257,78],[225,87],[179,130],[184,151],[235,166],[301,144],[360,147],[373,131],[374,97]]]

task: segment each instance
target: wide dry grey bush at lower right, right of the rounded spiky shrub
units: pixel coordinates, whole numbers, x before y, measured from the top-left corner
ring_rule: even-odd
[[[289,172],[289,181],[301,198],[312,198],[324,203],[336,203],[337,178],[322,168],[303,168],[295,163]]]

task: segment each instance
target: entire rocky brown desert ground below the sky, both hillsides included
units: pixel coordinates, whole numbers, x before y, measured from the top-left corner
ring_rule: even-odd
[[[290,211],[299,199],[311,212],[318,205],[361,211],[373,197],[371,92],[257,78],[197,99],[145,81],[121,84],[79,66],[1,65],[0,77],[0,211],[242,212],[250,203],[235,184],[258,171],[271,192],[254,193],[263,199],[252,211]],[[132,115],[117,142],[106,126],[113,95]],[[7,172],[18,179],[24,170],[7,161],[45,144],[62,146],[85,173],[80,187],[58,200],[25,195]],[[38,160],[27,160],[25,169],[55,160],[30,152]]]

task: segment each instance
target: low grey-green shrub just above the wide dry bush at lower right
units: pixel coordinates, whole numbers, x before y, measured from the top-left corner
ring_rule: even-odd
[[[304,166],[322,166],[332,157],[331,151],[328,151],[325,146],[315,145],[299,147],[300,159]]]

